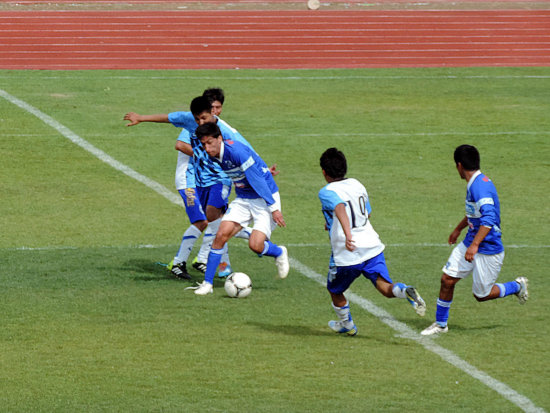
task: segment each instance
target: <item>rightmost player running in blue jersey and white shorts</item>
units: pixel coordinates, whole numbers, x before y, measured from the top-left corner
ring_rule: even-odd
[[[466,215],[449,235],[449,244],[456,243],[464,228],[468,227],[468,232],[443,267],[436,321],[421,332],[424,336],[449,331],[447,321],[455,285],[470,274],[473,277],[472,293],[477,301],[516,295],[519,303],[524,304],[529,297],[525,277],[506,283],[496,282],[504,260],[500,202],[495,185],[480,171],[478,150],[471,145],[461,145],[455,149],[454,161],[458,174],[468,184]]]

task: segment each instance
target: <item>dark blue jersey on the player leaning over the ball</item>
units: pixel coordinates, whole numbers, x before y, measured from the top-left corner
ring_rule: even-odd
[[[263,198],[268,206],[275,204],[273,194],[279,191],[266,163],[249,146],[241,142],[223,141],[220,158],[211,158],[235,184],[240,198]],[[272,211],[273,212],[273,211]]]

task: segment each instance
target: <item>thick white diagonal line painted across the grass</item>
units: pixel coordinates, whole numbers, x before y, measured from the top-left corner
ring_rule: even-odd
[[[98,159],[100,159],[102,162],[107,163],[108,165],[112,166],[116,170],[128,175],[129,177],[137,180],[138,182],[141,182],[142,184],[146,185],[147,187],[153,189],[155,192],[159,193],[160,195],[164,196],[166,199],[168,199],[170,202],[179,204],[179,199],[176,197],[172,192],[170,192],[166,187],[163,185],[151,180],[150,178],[141,175],[137,172],[135,172],[133,169],[127,167],[126,165],[120,163],[119,161],[115,160],[111,156],[107,155],[105,152],[97,149],[93,145],[91,145],[86,140],[82,139],[78,135],[76,135],[74,132],[66,128],[65,126],[61,125],[59,122],[57,122],[52,117],[46,115],[45,113],[41,112],[40,110],[36,109],[35,107],[29,105],[28,103],[10,95],[9,93],[5,92],[4,90],[0,89],[0,96],[6,99],[7,101],[13,103],[14,105],[20,107],[21,109],[29,112],[32,115],[35,115],[40,120],[42,120],[44,123],[46,123],[48,126],[51,126],[52,128],[56,129],[61,135],[63,135],[65,138],[69,139],[71,142],[75,143],[76,145],[80,146],[84,150],[90,152],[94,156],[96,156]],[[316,273],[315,271],[311,270],[309,267],[302,264],[300,261],[290,258],[290,263],[292,267],[303,274],[304,276],[317,281],[318,283],[324,285],[325,283],[325,277],[322,275]],[[388,325],[395,331],[399,333],[399,335],[405,339],[414,340],[420,345],[422,345],[425,349],[437,354],[440,356],[443,360],[445,360],[447,363],[457,367],[458,369],[464,371],[466,374],[470,375],[471,377],[475,378],[476,380],[480,381],[490,389],[493,389],[497,393],[499,393],[501,396],[503,396],[505,399],[509,400],[516,406],[518,406],[520,409],[522,409],[525,412],[545,412],[544,409],[537,407],[531,400],[529,400],[527,397],[519,394],[514,389],[510,388],[506,384],[492,378],[488,374],[484,373],[483,371],[477,369],[476,367],[472,366],[468,362],[462,360],[460,357],[455,355],[453,352],[439,346],[436,344],[432,339],[422,337],[417,332],[412,330],[407,324],[402,323],[398,320],[396,320],[390,313],[383,310],[380,307],[377,307],[373,303],[371,303],[369,300],[354,294],[350,293],[348,295],[348,298],[353,301],[354,303],[358,304],[361,308],[365,309],[369,313],[373,314],[375,317],[377,317],[381,322]]]

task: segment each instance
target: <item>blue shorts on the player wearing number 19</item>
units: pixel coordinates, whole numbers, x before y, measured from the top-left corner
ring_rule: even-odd
[[[361,264],[348,267],[330,267],[327,277],[327,289],[333,294],[342,294],[360,275],[369,279],[373,285],[376,285],[378,277],[382,277],[390,284],[393,283],[388,272],[384,253],[381,252],[376,257]]]

